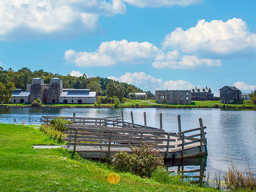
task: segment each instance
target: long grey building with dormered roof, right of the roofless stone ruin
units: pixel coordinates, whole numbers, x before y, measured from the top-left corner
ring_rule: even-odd
[[[195,87],[191,88],[191,100],[192,101],[207,101],[213,100],[214,94],[210,87]]]

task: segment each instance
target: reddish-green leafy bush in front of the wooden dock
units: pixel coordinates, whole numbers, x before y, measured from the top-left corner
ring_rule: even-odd
[[[157,168],[163,166],[163,157],[158,154],[154,145],[142,143],[139,148],[132,147],[132,151],[132,154],[116,153],[112,158],[112,165],[120,171],[145,177],[151,177]]]

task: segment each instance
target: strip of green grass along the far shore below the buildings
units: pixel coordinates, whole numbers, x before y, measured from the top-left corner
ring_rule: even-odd
[[[4,104],[3,107],[16,104]],[[17,104],[18,107],[29,107],[29,104]],[[42,105],[43,107],[67,107],[67,108],[94,108],[93,104],[52,104]],[[101,108],[114,108],[114,104],[101,104]],[[120,104],[121,108],[237,108],[237,109],[256,109],[250,101],[235,101],[231,104],[222,104],[220,101],[192,101],[191,104],[157,104],[155,100],[131,100]]]

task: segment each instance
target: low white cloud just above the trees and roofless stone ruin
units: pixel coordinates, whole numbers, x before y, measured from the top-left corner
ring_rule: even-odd
[[[184,80],[163,81],[162,79],[154,78],[144,72],[125,73],[121,77],[109,76],[108,79],[113,79],[128,84],[134,84],[143,90],[189,90],[190,87],[195,87],[192,83]]]

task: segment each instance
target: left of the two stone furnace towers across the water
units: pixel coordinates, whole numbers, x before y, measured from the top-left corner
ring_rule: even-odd
[[[41,99],[42,101],[43,85],[44,85],[43,79],[40,79],[40,78],[32,79],[32,83],[30,87],[29,103],[32,103],[35,99]]]

